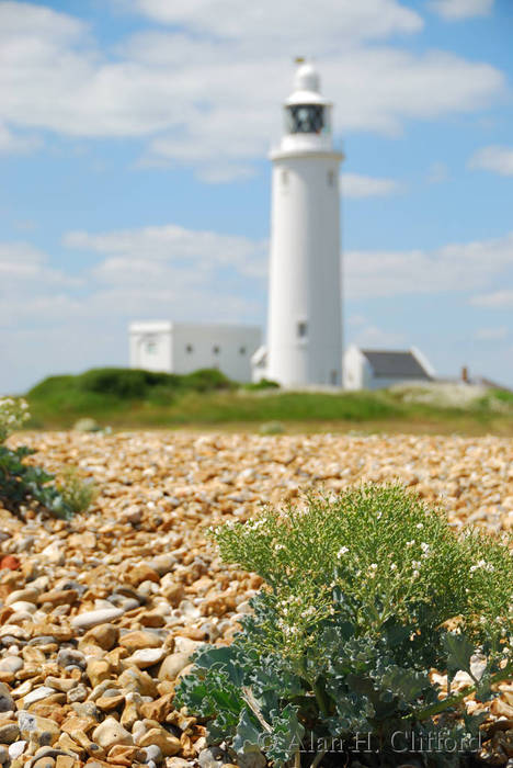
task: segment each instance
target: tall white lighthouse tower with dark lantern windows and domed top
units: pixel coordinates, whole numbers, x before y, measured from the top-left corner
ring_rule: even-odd
[[[286,387],[342,384],[339,166],[332,104],[297,60],[273,161],[265,376]],[[260,364],[262,365],[262,362]],[[255,360],[259,364],[259,360]],[[262,365],[263,368],[263,365]]]

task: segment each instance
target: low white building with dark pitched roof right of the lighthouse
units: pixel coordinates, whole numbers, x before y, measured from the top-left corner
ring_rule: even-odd
[[[422,352],[410,350],[360,349],[355,345],[344,353],[345,389],[381,389],[394,384],[430,382],[435,372]]]

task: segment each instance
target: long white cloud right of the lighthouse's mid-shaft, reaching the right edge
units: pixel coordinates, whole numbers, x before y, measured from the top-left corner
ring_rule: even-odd
[[[350,251],[343,257],[347,297],[476,291],[491,285],[513,263],[513,233],[502,238],[454,244],[432,251]],[[502,294],[497,302],[505,302]],[[488,298],[472,298],[486,305]]]

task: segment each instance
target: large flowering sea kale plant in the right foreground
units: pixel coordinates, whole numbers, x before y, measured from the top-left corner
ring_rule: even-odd
[[[210,744],[274,766],[477,752],[483,715],[464,698],[487,702],[513,676],[511,540],[455,531],[401,486],[312,496],[210,535],[264,579],[231,645],[196,652],[176,688]]]

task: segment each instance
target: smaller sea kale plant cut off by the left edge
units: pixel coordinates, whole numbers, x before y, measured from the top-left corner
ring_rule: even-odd
[[[29,407],[23,399],[0,398],[0,505],[23,517],[23,507],[35,505],[52,516],[69,519],[76,511],[84,511],[92,500],[89,486],[78,477],[57,485],[55,476],[41,466],[26,463],[35,451],[27,445],[9,448],[5,439],[29,419]]]

